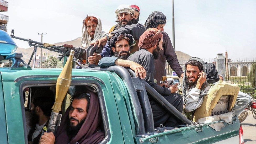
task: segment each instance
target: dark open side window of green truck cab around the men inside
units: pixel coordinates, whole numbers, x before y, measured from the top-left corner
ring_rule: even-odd
[[[85,85],[85,86],[72,85],[70,87],[72,87],[72,88],[70,88],[70,90],[68,90],[68,93],[62,102],[62,111],[60,111],[60,113],[62,114],[62,118],[65,114],[65,111],[71,104],[70,99],[74,95],[79,95],[81,93],[87,93],[90,95],[90,93],[93,93],[96,95],[96,97],[98,97],[97,99],[100,99],[100,97],[101,97],[101,95],[97,93],[97,89],[99,90],[99,88],[95,89],[95,87],[91,87],[89,85]],[[38,134],[38,133],[40,134],[40,132],[41,132],[40,131],[40,132],[36,133],[36,131],[34,130],[35,128],[37,130],[40,127],[40,125],[38,123],[40,114],[35,109],[36,109],[36,106],[38,106],[38,107],[42,106],[42,109],[48,109],[48,111],[44,110],[44,112],[45,112],[44,116],[50,118],[49,108],[52,107],[52,105],[54,104],[54,101],[55,101],[55,89],[56,89],[56,86],[54,86],[53,84],[50,84],[48,86],[44,85],[41,87],[39,87],[37,84],[34,87],[30,86],[30,87],[24,88],[23,94],[21,95],[21,97],[24,98],[25,124],[26,124],[25,132],[27,135],[27,138],[25,138],[25,140],[27,140],[28,142],[29,141],[34,142],[34,140],[36,140],[36,138],[38,138],[38,140],[40,139],[41,135],[35,136],[35,134]],[[103,108],[103,106],[100,105],[100,103],[99,103],[99,107],[100,107],[100,109]],[[100,109],[99,109],[99,115],[102,115],[102,112]],[[106,113],[104,113],[104,114],[106,114]],[[69,116],[69,115],[67,114],[67,116]],[[98,127],[99,130],[102,131],[103,133],[105,133],[106,137],[109,137],[109,135],[106,134],[106,131],[108,128],[106,127],[105,118],[107,118],[107,116],[99,116],[99,118],[102,119],[102,120],[100,120],[100,123],[99,123],[99,127]],[[63,121],[63,119],[62,119],[62,121]],[[46,126],[47,122],[43,125]],[[104,138],[103,143],[105,143],[104,142],[105,140],[106,140],[106,138]]]

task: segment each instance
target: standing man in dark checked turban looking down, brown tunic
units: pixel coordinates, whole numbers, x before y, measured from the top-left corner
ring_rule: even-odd
[[[154,79],[157,83],[162,79],[162,76],[166,76],[166,60],[169,63],[172,70],[176,72],[178,77],[183,77],[182,67],[179,64],[175,50],[173,49],[172,42],[166,32],[164,32],[164,26],[166,25],[166,16],[162,12],[152,12],[145,23],[145,29],[157,28],[163,34],[163,51],[160,51],[159,57],[155,60],[156,75]]]

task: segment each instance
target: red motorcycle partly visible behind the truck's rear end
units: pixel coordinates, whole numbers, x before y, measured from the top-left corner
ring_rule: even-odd
[[[252,98],[252,101],[249,103],[247,108],[238,116],[240,122],[246,119],[248,116],[248,110],[252,112],[253,119],[256,119],[256,100],[254,98]]]

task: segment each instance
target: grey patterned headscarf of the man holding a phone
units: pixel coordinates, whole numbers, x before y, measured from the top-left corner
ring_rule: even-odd
[[[188,62],[189,62],[189,61],[193,61],[193,60],[198,61],[198,62],[201,63],[201,66],[202,66],[202,68],[203,68],[203,71],[205,72],[205,75],[207,76],[206,67],[205,67],[205,62],[204,62],[201,58],[198,58],[198,57],[191,57],[191,58],[188,60]],[[186,62],[186,63],[187,63],[187,62]],[[189,88],[189,84],[186,82],[186,79],[187,79],[186,71],[187,71],[187,68],[185,67],[185,71],[184,71],[184,75],[183,75],[183,82],[182,82],[182,83],[183,83],[183,86],[182,86],[182,88],[183,88],[182,97],[183,97],[184,100],[185,100],[185,98],[187,97],[188,92],[189,92],[192,88],[195,88],[195,86],[196,86],[196,85],[191,86],[191,88],[188,89],[188,88]],[[201,90],[200,97],[203,97],[203,96],[205,96],[206,94],[207,94],[207,93],[205,93],[203,90]]]

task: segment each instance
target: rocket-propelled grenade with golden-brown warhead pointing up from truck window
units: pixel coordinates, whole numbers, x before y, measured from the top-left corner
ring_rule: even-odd
[[[47,128],[48,132],[54,132],[56,123],[58,120],[60,120],[60,116],[58,117],[58,115],[59,115],[59,112],[61,111],[61,104],[71,84],[73,56],[74,56],[74,51],[71,50],[69,58],[57,79],[55,102],[54,102],[54,105],[52,106],[52,113],[51,113],[51,117],[50,117],[48,128]]]

